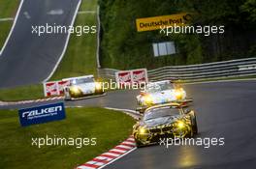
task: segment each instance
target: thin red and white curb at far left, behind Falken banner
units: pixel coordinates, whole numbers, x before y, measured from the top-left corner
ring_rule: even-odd
[[[64,99],[64,97],[54,97],[54,98],[48,98],[48,99],[31,99],[31,100],[21,100],[21,101],[0,101],[0,106],[36,103],[36,102],[44,102],[44,101],[57,100],[57,99]]]

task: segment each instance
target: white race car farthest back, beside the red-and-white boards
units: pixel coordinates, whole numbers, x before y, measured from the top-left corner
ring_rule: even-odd
[[[63,79],[63,81],[70,81],[70,85],[64,88],[65,99],[81,99],[105,94],[101,83],[96,82],[93,75],[67,78]]]

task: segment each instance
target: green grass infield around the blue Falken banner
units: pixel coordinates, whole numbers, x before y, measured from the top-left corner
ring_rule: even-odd
[[[112,149],[126,139],[134,120],[103,108],[66,109],[67,118],[48,124],[20,127],[17,111],[0,111],[0,168],[71,169]],[[96,146],[32,146],[32,138],[97,138]]]

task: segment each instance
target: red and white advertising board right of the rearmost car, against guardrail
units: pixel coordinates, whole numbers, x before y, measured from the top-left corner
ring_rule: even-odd
[[[115,80],[120,86],[133,83],[147,83],[147,71],[146,69],[117,71],[115,72]]]

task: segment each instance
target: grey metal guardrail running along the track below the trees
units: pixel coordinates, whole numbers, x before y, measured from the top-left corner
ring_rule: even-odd
[[[118,70],[100,69],[99,75],[114,80]],[[209,78],[238,77],[256,75],[256,58],[215,62],[190,66],[167,66],[155,70],[147,70],[151,81],[163,79],[201,80]]]

